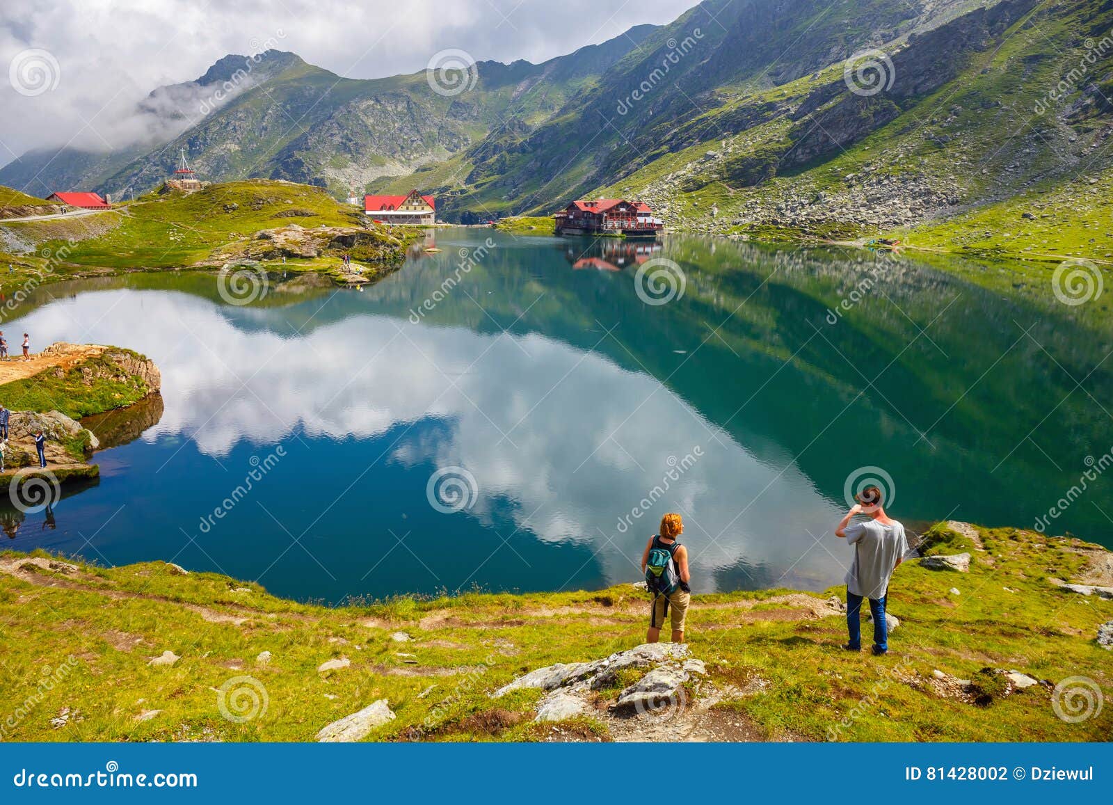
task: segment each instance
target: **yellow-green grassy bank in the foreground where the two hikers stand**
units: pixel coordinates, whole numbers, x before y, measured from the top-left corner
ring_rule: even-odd
[[[1107,707],[1071,724],[1056,717],[1051,688],[1080,675],[1105,690],[1113,685],[1113,656],[1095,642],[1113,601],[1047,580],[1076,577],[1107,554],[1013,529],[933,532],[929,553],[958,551],[974,557],[968,573],[917,561],[897,570],[889,610],[900,626],[883,658],[838,647],[843,618],[825,597],[696,596],[687,636],[709,679],[689,690],[690,717],[742,724],[750,738],[772,740],[1107,738]],[[67,571],[42,559],[19,569],[22,561],[10,552],[0,559],[0,616],[8,624],[0,646],[10,669],[0,695],[33,699],[6,727],[14,740],[312,740],[326,724],[382,698],[397,717],[372,740],[548,739],[552,726],[533,723],[540,691],[498,700],[489,693],[542,666],[638,645],[648,606],[643,592],[621,585],[326,608],[215,573],[179,576],[162,562]],[[413,639],[395,641],[397,631]],[[173,667],[148,664],[167,650],[180,657]],[[345,658],[347,667],[317,670]],[[65,673],[33,698],[43,667]],[[1048,683],[1006,696],[1001,677],[984,668]],[[947,696],[935,670],[973,687]],[[609,738],[630,721],[611,719],[608,708],[638,676],[623,673],[593,694],[597,715],[558,726],[573,738]],[[712,686],[721,700],[701,709]],[[254,704],[229,711],[226,697],[237,687],[254,690],[244,703]],[[883,704],[870,706],[879,690]]]

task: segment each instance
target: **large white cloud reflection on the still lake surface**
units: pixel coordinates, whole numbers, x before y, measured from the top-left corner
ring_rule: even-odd
[[[150,355],[162,372],[165,412],[148,441],[191,440],[190,449],[219,460],[238,443],[265,454],[304,432],[374,445],[368,480],[388,462],[463,467],[479,485],[470,516],[491,522],[500,502],[513,501],[523,532],[589,546],[615,582],[638,577],[631,562],[669,510],[686,514],[700,590],[713,589],[715,571],[747,561],[774,580],[788,569],[785,586],[821,588],[841,578],[827,551],[811,550],[808,533],[829,534],[840,509],[789,454],[759,460],[728,434],[712,436],[702,415],[656,379],[539,334],[413,326],[367,310],[284,335],[280,308],[111,291],[59,300],[19,326],[37,344],[129,344]],[[444,423],[435,436],[413,429],[396,442],[393,433],[390,442],[373,441],[434,418]],[[619,519],[686,455],[698,455],[697,446],[702,455],[668,482],[660,501],[620,529]],[[348,468],[352,477],[362,471]],[[165,473],[165,494],[175,482]]]

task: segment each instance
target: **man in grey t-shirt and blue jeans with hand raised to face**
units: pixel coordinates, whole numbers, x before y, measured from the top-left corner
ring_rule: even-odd
[[[908,540],[904,526],[889,518],[881,508],[885,502],[881,490],[866,487],[856,500],[858,502],[850,507],[835,529],[836,537],[843,537],[854,546],[854,562],[846,573],[846,628],[850,640],[843,648],[861,650],[859,616],[861,601],[868,598],[874,618],[874,654],[885,654],[889,650],[889,630],[885,622],[889,578],[904,561]],[[855,514],[866,514],[869,520],[850,523]]]

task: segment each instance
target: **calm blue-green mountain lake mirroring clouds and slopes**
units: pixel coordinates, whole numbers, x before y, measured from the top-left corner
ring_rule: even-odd
[[[461,249],[487,237],[495,247],[461,271]],[[164,374],[165,413],[102,454],[111,472],[82,531],[112,517],[98,540],[114,560],[173,556],[250,459],[282,444],[293,458],[213,531],[199,567],[331,600],[604,583],[638,575],[646,536],[673,509],[698,589],[821,588],[844,572],[829,532],[855,469],[893,477],[899,517],[1023,526],[1040,512],[1016,490],[1068,488],[1104,438],[1089,396],[1113,392],[1103,342],[1061,305],[1002,300],[907,259],[697,238],[660,245],[687,275],[663,306],[642,303],[633,271],[569,269],[583,254],[632,266],[639,246],[653,244],[442,232],[440,254],[363,294],[237,308],[121,291],[39,310],[43,337],[77,323]],[[865,295],[864,276],[876,279]],[[425,483],[451,468],[475,490],[466,511],[441,516]],[[1091,492],[1111,497],[1104,479]],[[633,516],[643,499],[657,502]],[[156,518],[165,533],[147,539],[166,544],[137,544]],[[290,547],[276,520],[306,531],[297,544],[327,571],[307,576],[297,547],[268,569]],[[1095,507],[1058,524],[1104,534]],[[365,578],[384,546],[397,548],[391,567]],[[482,553],[472,565],[493,558],[473,572],[461,546]]]

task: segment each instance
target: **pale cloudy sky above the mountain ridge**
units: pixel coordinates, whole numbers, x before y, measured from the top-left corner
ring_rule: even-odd
[[[269,47],[349,78],[422,70],[444,49],[543,61],[676,19],[697,0],[0,0],[0,165],[104,150],[156,87]],[[17,91],[19,90],[19,91]]]

